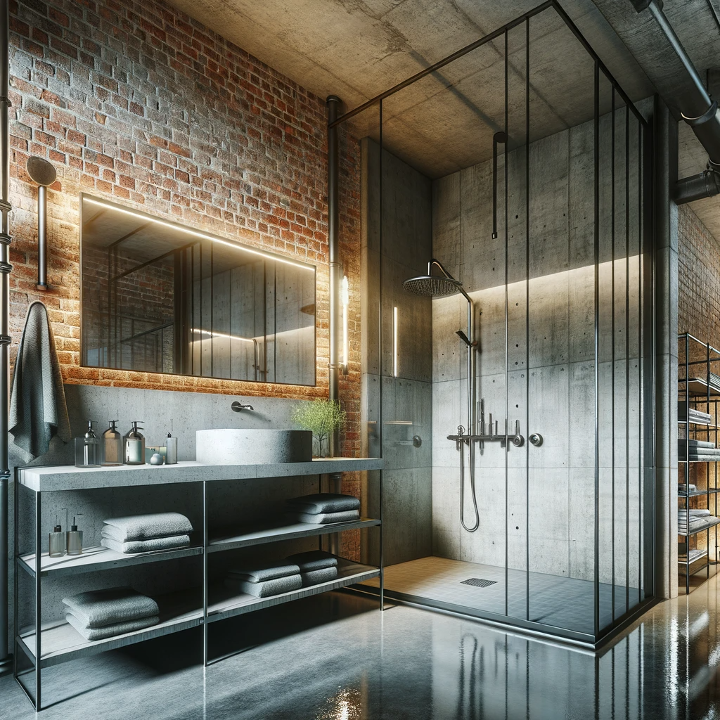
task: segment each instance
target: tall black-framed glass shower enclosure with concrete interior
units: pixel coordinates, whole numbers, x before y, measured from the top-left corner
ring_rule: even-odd
[[[642,110],[546,2],[336,122],[386,597],[585,646],[651,600]]]

